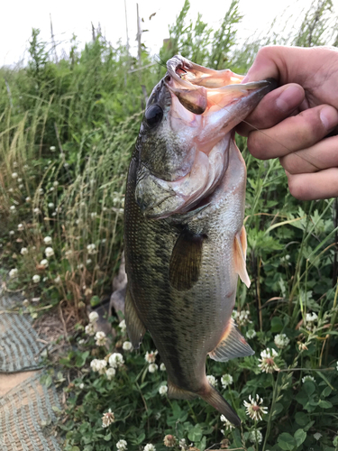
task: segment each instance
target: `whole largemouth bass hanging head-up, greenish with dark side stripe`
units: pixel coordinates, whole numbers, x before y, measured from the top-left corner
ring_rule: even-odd
[[[124,315],[138,349],[148,330],[170,398],[200,397],[241,420],[206,378],[206,357],[254,354],[232,319],[238,276],[249,287],[243,226],[246,167],[233,128],[276,83],[180,55],[153,88],[124,200]]]

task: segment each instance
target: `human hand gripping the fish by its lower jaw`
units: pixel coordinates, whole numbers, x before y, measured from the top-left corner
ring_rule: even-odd
[[[264,47],[243,82],[270,77],[280,87],[236,132],[248,136],[254,157],[279,157],[295,198],[338,197],[338,136],[326,137],[338,133],[338,51]]]

